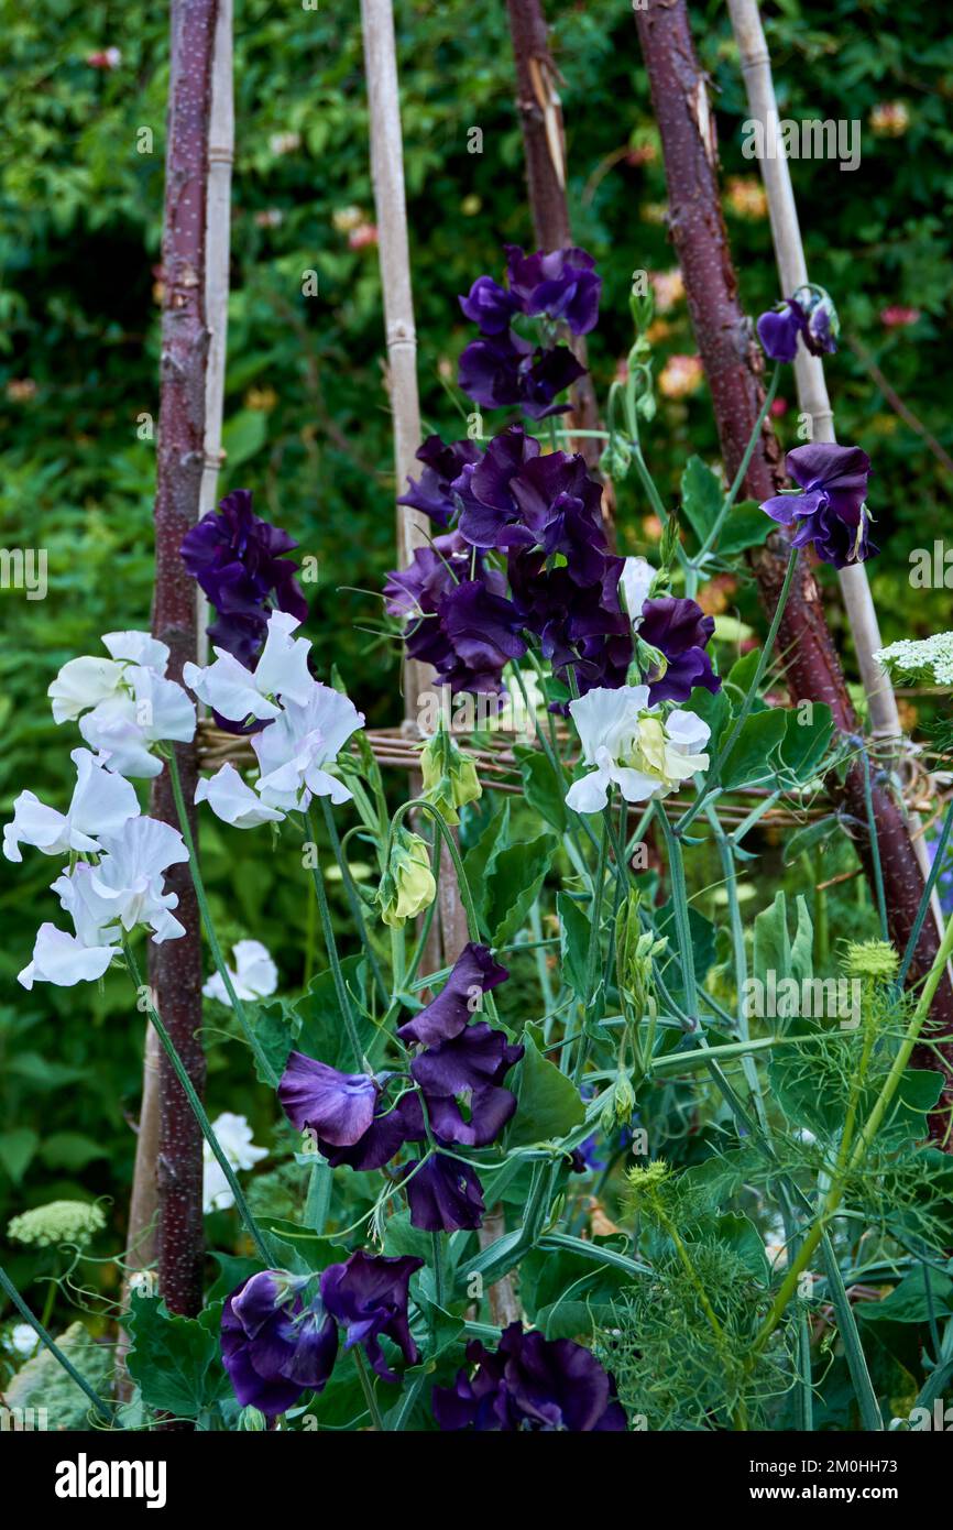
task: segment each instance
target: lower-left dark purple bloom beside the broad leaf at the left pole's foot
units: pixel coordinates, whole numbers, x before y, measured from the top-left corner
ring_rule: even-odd
[[[243,1408],[274,1418],[304,1391],[320,1392],[338,1353],[338,1330],[320,1302],[304,1308],[307,1278],[263,1270],[222,1311],[222,1363]]]

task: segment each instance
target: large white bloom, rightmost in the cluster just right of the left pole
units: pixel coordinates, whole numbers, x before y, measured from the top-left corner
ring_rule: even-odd
[[[252,736],[251,747],[262,768],[262,802],[285,812],[307,811],[312,796],[349,802],[347,786],[324,767],[333,765],[350,734],[363,725],[364,713],[347,696],[311,681],[303,705],[286,702],[280,718]]]

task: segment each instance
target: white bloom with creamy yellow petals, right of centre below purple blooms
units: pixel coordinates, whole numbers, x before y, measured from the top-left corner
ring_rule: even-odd
[[[662,797],[699,770],[708,756],[699,753],[708,741],[708,724],[690,711],[664,716],[649,705],[647,685],[598,687],[569,702],[583,745],[583,760],[595,767],[566,793],[577,812],[601,812],[609,788],[618,786],[626,802]]]

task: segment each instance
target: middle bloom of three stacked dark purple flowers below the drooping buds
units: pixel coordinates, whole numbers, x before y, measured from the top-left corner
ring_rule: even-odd
[[[496,1141],[516,1111],[516,1095],[502,1082],[523,1051],[482,1021],[415,1057],[410,1073],[441,1141],[468,1148]]]

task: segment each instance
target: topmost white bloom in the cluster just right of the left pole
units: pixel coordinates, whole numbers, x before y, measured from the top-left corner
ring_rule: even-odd
[[[288,610],[272,610],[268,618],[268,638],[255,670],[245,669],[226,649],[216,649],[216,661],[207,669],[185,664],[182,678],[190,690],[222,718],[245,722],[278,718],[281,708],[275,696],[285,702],[307,701],[312,678],[307,670],[311,638],[292,638],[301,623]]]

